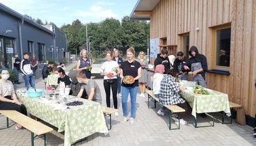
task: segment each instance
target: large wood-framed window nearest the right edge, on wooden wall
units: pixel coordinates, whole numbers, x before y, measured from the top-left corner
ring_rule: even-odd
[[[230,67],[230,38],[231,28],[215,30],[215,67]]]

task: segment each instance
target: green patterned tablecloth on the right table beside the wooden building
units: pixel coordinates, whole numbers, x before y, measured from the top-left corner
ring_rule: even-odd
[[[209,90],[210,95],[198,95],[193,90],[184,90],[181,95],[192,108],[192,115],[196,118],[196,113],[213,113],[225,111],[230,113],[230,104],[227,94],[215,90]]]

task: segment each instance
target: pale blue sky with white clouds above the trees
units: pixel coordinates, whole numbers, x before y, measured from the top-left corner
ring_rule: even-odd
[[[83,24],[101,22],[107,17],[121,21],[130,15],[138,0],[0,0],[0,3],[22,15],[42,22],[54,22],[58,27],[79,19]]]

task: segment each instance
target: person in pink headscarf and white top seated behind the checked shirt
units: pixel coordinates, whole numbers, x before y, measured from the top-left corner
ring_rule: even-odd
[[[154,76],[153,76],[153,91],[154,91],[154,96],[158,98],[160,94],[161,81],[163,79],[163,72],[164,72],[164,66],[157,65],[156,69],[154,70]]]

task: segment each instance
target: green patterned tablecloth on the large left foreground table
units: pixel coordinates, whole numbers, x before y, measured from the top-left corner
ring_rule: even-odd
[[[102,107],[97,102],[79,99],[81,106],[70,106],[64,110],[56,110],[61,104],[55,100],[24,97],[17,93],[19,100],[26,106],[29,113],[65,131],[64,145],[71,145],[81,138],[93,133],[108,133]]]

